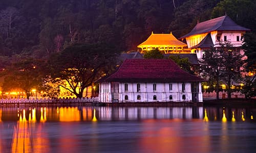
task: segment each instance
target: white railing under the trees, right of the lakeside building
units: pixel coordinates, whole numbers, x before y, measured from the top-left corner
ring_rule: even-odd
[[[216,97],[216,95],[217,95],[217,93],[215,90],[212,92],[205,92],[205,91],[203,92],[203,97]],[[227,92],[220,91],[219,97],[227,98]],[[232,92],[231,98],[245,98],[245,94],[241,93],[241,91]]]

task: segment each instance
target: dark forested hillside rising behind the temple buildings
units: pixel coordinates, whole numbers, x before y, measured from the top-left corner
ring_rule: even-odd
[[[253,0],[3,0],[0,55],[47,58],[75,42],[136,50],[152,31],[180,37],[198,21],[225,14],[254,31],[254,10]]]

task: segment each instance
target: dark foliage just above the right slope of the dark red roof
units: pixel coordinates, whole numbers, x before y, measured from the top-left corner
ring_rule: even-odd
[[[183,70],[190,74],[194,74],[194,71],[191,70],[191,63],[189,63],[188,58],[180,58],[180,56],[171,55],[169,59],[172,59],[176,64],[180,66]]]

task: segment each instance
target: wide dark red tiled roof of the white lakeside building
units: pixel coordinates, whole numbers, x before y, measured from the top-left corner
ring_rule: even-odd
[[[110,77],[99,82],[202,82],[170,59],[127,59]]]

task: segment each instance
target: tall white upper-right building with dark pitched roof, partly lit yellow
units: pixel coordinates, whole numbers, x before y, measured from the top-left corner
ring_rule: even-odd
[[[230,17],[221,16],[198,23],[193,30],[179,39],[185,39],[191,53],[202,58],[205,50],[211,47],[220,47],[221,43],[230,42],[234,47],[241,47],[243,35],[250,31],[236,24]],[[243,50],[240,49],[243,55]]]

